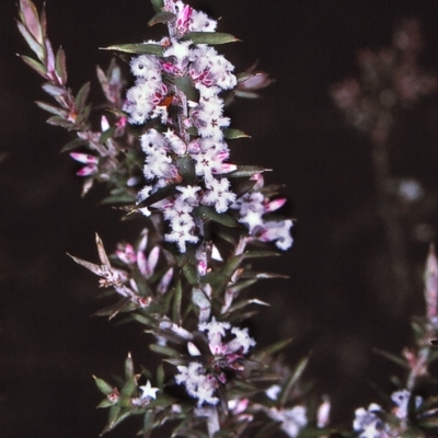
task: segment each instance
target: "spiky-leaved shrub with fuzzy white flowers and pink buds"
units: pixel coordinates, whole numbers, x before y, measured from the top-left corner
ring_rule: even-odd
[[[141,416],[143,437],[423,436],[436,425],[438,410],[430,394],[417,393],[437,357],[429,343],[438,332],[435,253],[426,269],[427,316],[414,321],[415,347],[403,357],[385,354],[407,369],[406,382],[391,395],[388,412],[372,403],[356,411],[353,431],[336,430],[328,397],[312,400],[302,382],[309,359],[285,366],[277,353],[290,339],[261,349],[246,326],[254,309],[267,306],[247,288],[279,276],[255,270],[251,262],[288,250],[292,221],[274,215],[285,199],[277,186],[265,185],[266,169],[230,162],[228,143],[247,135],[232,127],[226,107],[235,97],[256,96],[270,80],[254,69],[234,72],[212,46],[237,38],[216,32],[217,22],[204,12],[180,0],[151,1],[155,15],[149,25],[164,24],[168,35],[106,48],[128,60],[134,84],[127,87],[116,60],[97,68],[104,108],[89,103],[90,83],[76,94],[68,88],[66,56],[48,39],[44,10],[38,13],[31,0],[19,5],[19,30],[35,54],[22,59],[45,79],[43,89],[55,101],[37,102],[51,114],[47,122],[73,134],[62,150],[83,164],[82,194],[104,184],[103,203],[143,223],[136,241],[110,254],[96,235],[96,263],[71,255],[114,297],[99,314],[138,323],[154,338],[150,350],[162,358],[154,371],[136,372],[129,354],[117,385],[95,378],[104,394],[99,407],[108,408],[104,433]],[[368,64],[395,58],[376,59]],[[383,96],[379,89],[376,100],[374,89],[360,90],[358,82],[334,89],[339,106],[377,145],[385,139],[388,102],[399,96],[396,102],[411,103],[435,84],[418,79],[415,68],[399,73],[400,96]],[[370,107],[379,107],[377,117]]]

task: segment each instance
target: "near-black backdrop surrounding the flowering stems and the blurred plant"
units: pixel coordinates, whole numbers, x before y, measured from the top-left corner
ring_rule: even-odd
[[[91,376],[122,372],[129,350],[148,362],[136,326],[90,315],[99,309],[93,276],[66,256],[96,260],[94,232],[113,249],[134,237],[119,214],[96,207],[99,189],[80,198],[74,164],[60,147],[69,135],[46,125],[33,101],[46,100],[36,73],[15,53],[30,55],[14,27],[15,4],[0,0],[0,436],[96,437],[106,412]],[[296,243],[268,267],[289,280],[255,293],[273,303],[254,327],[260,345],[296,336],[287,361],[312,351],[309,377],[333,402],[333,420],[360,405],[382,402],[370,382],[390,393],[400,370],[371,348],[400,351],[411,341],[408,316],[423,311],[420,273],[428,242],[408,234],[417,290],[397,306],[388,286],[387,243],[376,214],[370,143],[344,123],[330,84],[356,74],[359,48],[390,44],[394,23],[415,16],[427,42],[423,64],[438,70],[435,0],[194,1],[219,30],[243,43],[220,48],[242,71],[255,60],[276,83],[260,101],[231,108],[233,126],[252,135],[231,145],[232,162],[274,169],[285,183]],[[42,2],[38,2],[41,8]],[[153,37],[147,0],[48,1],[48,34],[67,53],[70,87],[94,78],[110,54],[97,48]],[[96,85],[95,80],[93,82]],[[392,135],[393,173],[422,182],[428,199],[417,223],[438,224],[438,99],[400,115]],[[131,227],[131,228],[130,228]],[[402,374],[400,374],[402,376]],[[114,437],[134,436],[127,426]]]

